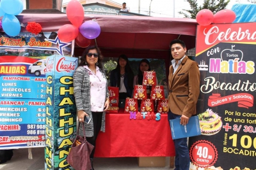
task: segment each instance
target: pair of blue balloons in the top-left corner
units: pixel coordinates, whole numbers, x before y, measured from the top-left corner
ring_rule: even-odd
[[[8,36],[17,36],[20,33],[20,22],[15,15],[19,15],[22,10],[21,0],[1,0],[0,17],[3,17],[3,30]]]

